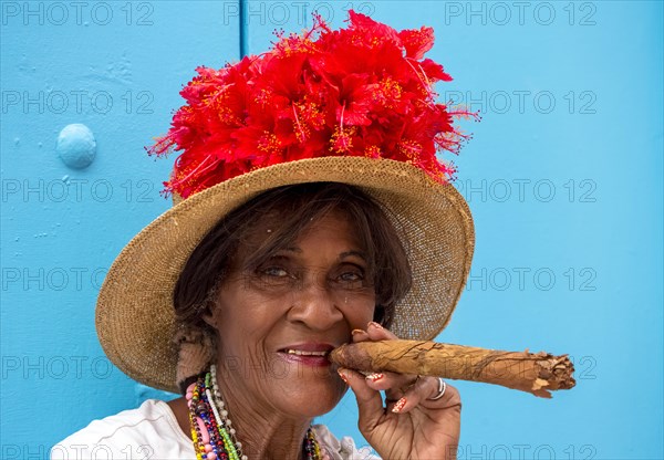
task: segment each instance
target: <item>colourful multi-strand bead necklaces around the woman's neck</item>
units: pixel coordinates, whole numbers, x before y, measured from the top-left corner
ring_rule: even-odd
[[[198,377],[189,385],[186,398],[196,459],[248,460],[248,457],[242,454],[242,443],[236,438],[236,429],[221,399],[215,365],[210,366],[205,376]],[[311,427],[302,441],[302,458],[321,459],[321,449]]]

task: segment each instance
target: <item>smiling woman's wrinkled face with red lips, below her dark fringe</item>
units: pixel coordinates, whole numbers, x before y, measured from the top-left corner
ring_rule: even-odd
[[[260,244],[273,221],[262,219],[248,245]],[[246,248],[234,266],[242,266]],[[209,318],[227,396],[295,417],[319,416],[339,402],[346,387],[324,355],[373,318],[363,253],[347,219],[331,212],[257,270],[231,271]]]

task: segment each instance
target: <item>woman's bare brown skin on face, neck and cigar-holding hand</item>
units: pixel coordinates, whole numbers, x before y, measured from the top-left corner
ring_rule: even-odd
[[[269,228],[263,219],[250,243]],[[333,212],[255,272],[232,271],[217,293],[216,307],[205,320],[218,332],[219,387],[249,458],[300,458],[307,428],[339,404],[347,389],[344,379],[357,399],[360,430],[381,457],[453,458],[460,419],[453,387],[432,401],[435,378],[385,373],[372,381],[326,359],[312,364],[284,353],[308,346],[301,344],[336,347],[396,338],[371,322],[375,294],[366,268],[352,226]],[[387,399],[405,395],[400,414],[392,411],[394,401],[385,408],[378,390],[387,390]],[[188,433],[186,404],[170,406]]]

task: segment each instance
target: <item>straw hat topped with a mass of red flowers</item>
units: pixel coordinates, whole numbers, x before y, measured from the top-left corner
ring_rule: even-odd
[[[178,391],[173,291],[189,255],[219,219],[274,187],[344,182],[385,208],[413,270],[391,326],[397,336],[435,337],[458,302],[473,218],[449,184],[454,167],[436,153],[458,149],[466,136],[452,118],[474,114],[433,101],[430,84],[450,80],[422,60],[433,31],[396,32],[353,11],[340,31],[314,19],[310,32],[281,36],[269,53],[199,67],[181,92],[188,104],[151,149],[183,151],[165,182],[181,200],[123,249],[96,309],[104,352],[145,385]]]

